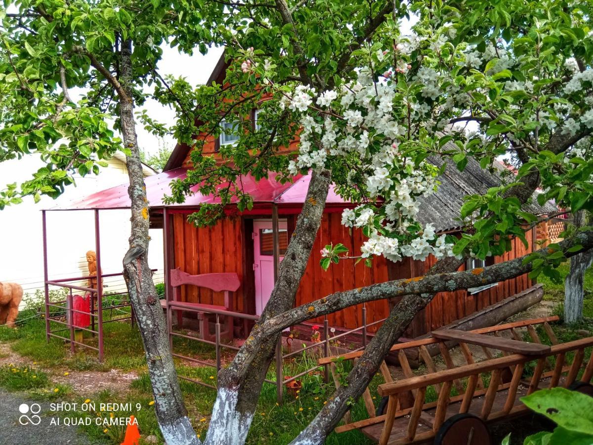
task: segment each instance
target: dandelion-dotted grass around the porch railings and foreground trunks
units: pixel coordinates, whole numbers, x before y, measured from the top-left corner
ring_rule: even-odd
[[[105,360],[104,363],[98,363],[97,354],[94,351],[77,348],[75,354],[71,354],[69,345],[59,339],[52,338],[49,343],[46,342],[45,322],[39,317],[30,318],[33,314],[32,310],[21,311],[18,320],[24,321],[17,322],[19,325],[17,329],[0,326],[0,342],[9,344],[12,351],[30,360],[30,363],[24,365],[8,364],[0,367],[0,386],[10,390],[25,391],[32,398],[38,400],[71,401],[80,404],[90,399],[97,406],[100,402],[130,402],[132,410],[119,411],[113,415],[117,415],[117,417],[135,415],[143,437],[153,434],[162,440],[154,409],[150,405],[152,389],[146,372],[141,337],[138,329],[130,326],[129,320],[104,324]],[[85,333],[85,343],[96,344],[96,341],[87,335],[90,334]],[[183,355],[199,356],[206,360],[215,357],[213,348],[208,345],[187,341],[183,338],[174,340],[176,351],[180,351]],[[176,363],[180,376],[192,377],[210,384],[216,382],[214,368],[190,366],[177,359]],[[305,354],[298,355],[294,360],[285,362],[284,373],[285,375],[296,375],[313,365],[313,357]],[[347,363],[339,364],[341,367],[347,365]],[[94,393],[76,393],[68,384],[53,383],[56,381],[55,377],[62,377],[65,372],[73,375],[77,372],[110,371],[112,369],[136,371],[138,379],[133,380],[129,390],[125,393],[114,393],[101,387],[97,387]],[[285,391],[284,403],[281,405],[276,403],[276,386],[264,383],[247,443],[286,444],[295,438],[320,411],[324,402],[334,391],[333,383],[325,383],[321,371],[323,368],[299,379],[302,382],[300,392],[297,395],[290,395]],[[270,380],[275,379],[273,364],[267,377]],[[62,377],[60,380],[64,380],[64,378]],[[377,396],[377,386],[381,383],[383,383],[381,377],[375,377],[371,384],[375,405],[380,399]],[[212,389],[185,380],[180,380],[180,385],[192,424],[197,434],[203,438],[208,429],[209,416],[216,393]],[[137,403],[142,407],[139,411],[136,410]],[[67,415],[74,414],[68,412]],[[75,415],[79,417],[109,417],[112,414],[110,412],[80,411]],[[368,416],[364,402],[362,399],[358,400],[352,406],[352,418],[358,420],[366,417]],[[104,428],[91,424],[80,428],[88,434],[94,443],[120,444],[125,434],[125,427]],[[326,443],[332,445],[367,444],[371,441],[362,433],[351,431],[339,436],[333,433]]]

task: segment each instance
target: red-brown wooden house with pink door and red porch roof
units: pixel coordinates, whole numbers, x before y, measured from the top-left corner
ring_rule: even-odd
[[[216,66],[212,81],[224,79],[224,59]],[[257,113],[253,113],[255,116]],[[204,154],[214,154],[221,144],[232,143],[232,138],[222,132],[219,138],[211,135],[197,135],[205,138]],[[298,142],[284,150],[295,150]],[[181,179],[191,168],[189,160],[191,148],[177,145],[165,166],[163,173],[146,179],[146,190],[151,208],[152,227],[163,227],[164,215],[167,224],[167,246],[165,267],[180,268],[189,274],[207,274],[211,272],[236,272],[240,277],[241,287],[233,295],[231,310],[260,314],[273,288],[273,255],[272,255],[272,209],[277,208],[279,214],[279,250],[280,259],[285,252],[286,244],[295,228],[297,217],[302,208],[310,176],[302,176],[293,184],[280,184],[270,174],[270,179],[256,182],[253,177],[241,178],[245,192],[253,197],[254,206],[251,211],[238,212],[235,205],[229,205],[227,217],[212,227],[197,228],[187,222],[187,215],[197,211],[201,204],[213,202],[211,196],[194,193],[188,196],[181,205],[165,206],[162,196],[170,193],[170,182]],[[441,160],[432,159],[432,163],[440,165]],[[502,169],[502,165],[500,169]],[[470,160],[461,173],[454,166],[448,166],[439,177],[441,185],[435,195],[423,200],[419,220],[423,223],[432,222],[439,232],[455,234],[459,231],[459,211],[463,198],[472,193],[485,193],[489,187],[500,185],[502,179],[498,174],[490,174],[480,169],[476,161]],[[237,182],[239,183],[239,182]],[[222,185],[224,187],[224,185]],[[195,190],[196,187],[194,187]],[[125,186],[113,187],[95,193],[75,204],[76,208],[126,208],[129,199]],[[321,269],[320,250],[330,242],[343,243],[349,247],[352,255],[360,253],[363,235],[360,230],[350,231],[340,224],[343,208],[353,206],[343,201],[331,189],[321,228],[313,246],[313,253],[307,269],[301,279],[297,294],[297,305],[318,300],[336,291],[350,290],[388,279],[412,278],[425,274],[435,263],[434,258],[425,262],[404,258],[401,262],[391,263],[384,258],[376,258],[372,267],[364,262],[355,264],[354,260],[344,260],[339,265],[331,265],[327,272]],[[527,211],[537,215],[549,214],[556,209],[537,204],[525,206]],[[531,252],[534,245],[535,232],[532,230],[527,239],[529,246],[525,248],[521,241],[514,241],[511,252],[502,257],[490,258],[485,264],[480,260],[471,260],[462,269],[479,268],[490,263],[502,262],[517,258]],[[411,328],[409,336],[422,335],[429,330],[447,325],[454,320],[467,316],[474,311],[497,303],[503,298],[524,291],[533,283],[527,275],[509,279],[505,282],[455,293],[436,295],[429,306],[419,313]],[[171,290],[167,290],[169,295]],[[181,301],[202,304],[222,304],[222,294],[196,287],[182,287]],[[366,304],[366,322],[372,323],[384,319],[388,315],[387,300]],[[328,316],[329,325],[336,328],[353,329],[362,325],[361,307],[352,307]],[[315,320],[320,322],[323,319]],[[238,329],[240,323],[235,320]],[[369,328],[374,331],[378,325]],[[243,332],[246,334],[246,332]]]

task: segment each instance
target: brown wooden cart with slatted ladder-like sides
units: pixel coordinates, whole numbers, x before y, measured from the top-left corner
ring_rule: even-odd
[[[558,317],[523,320],[464,332],[447,329],[432,332],[431,338],[394,345],[405,379],[394,382],[387,365],[382,363],[381,374],[386,383],[378,387],[383,397],[375,408],[368,389],[363,398],[368,419],[352,422],[350,413],[346,422],[336,428],[337,433],[361,430],[369,438],[383,444],[435,443],[435,444],[488,444],[486,423],[524,414],[528,408],[519,398],[545,387],[575,387],[591,393],[589,381],[593,374],[593,360],[584,364],[585,348],[593,346],[593,337],[559,344],[548,322]],[[535,329],[543,326],[552,345],[541,344]],[[522,341],[518,328],[527,328],[532,342]],[[511,332],[513,339],[500,336]],[[492,335],[488,335],[492,334]],[[447,347],[457,342],[466,365],[455,367]],[[447,342],[447,343],[446,343]],[[429,354],[428,345],[438,344],[447,369],[437,371]],[[470,345],[482,348],[487,357],[474,361]],[[412,373],[405,350],[419,348],[419,355],[428,368],[425,375]],[[339,357],[321,358],[320,364],[329,365],[336,386],[339,379],[336,361],[356,360],[362,351]],[[498,356],[498,357],[495,357]],[[572,356],[572,360],[569,360]],[[340,358],[341,357],[341,358]],[[524,379],[527,363],[533,362],[533,375]],[[569,363],[570,362],[570,363]],[[584,367],[579,381],[576,381]],[[485,377],[485,378],[483,378]],[[486,383],[488,382],[488,383]],[[438,399],[425,402],[428,387],[432,386]],[[458,395],[451,396],[452,388]]]

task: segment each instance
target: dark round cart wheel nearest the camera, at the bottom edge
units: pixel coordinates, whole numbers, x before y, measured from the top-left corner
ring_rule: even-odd
[[[436,432],[435,445],[490,445],[490,433],[482,419],[473,414],[455,414]]]

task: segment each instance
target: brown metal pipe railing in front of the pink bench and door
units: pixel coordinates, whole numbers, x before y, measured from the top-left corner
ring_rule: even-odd
[[[323,350],[323,357],[331,357],[331,355],[334,355],[331,353],[331,343],[332,342],[335,343],[337,341],[337,339],[345,338],[347,335],[353,335],[353,334],[358,333],[359,331],[361,331],[362,345],[361,345],[361,347],[356,348],[353,351],[359,351],[366,347],[366,342],[367,342],[367,338],[368,338],[367,337],[368,328],[371,326],[377,325],[378,323],[382,323],[386,319],[377,320],[372,323],[366,323],[366,306],[365,306],[365,304],[362,304],[361,310],[362,310],[362,314],[361,314],[362,315],[362,317],[361,317],[362,326],[359,326],[358,328],[355,328],[355,329],[347,330],[346,332],[341,332],[337,335],[330,336],[329,323],[327,321],[327,317],[324,317],[323,339],[319,338],[318,341],[313,342],[313,344],[305,345],[304,348],[297,349],[296,351],[292,351],[292,352],[288,351],[288,352],[286,352],[286,354],[283,353],[282,339],[286,338],[286,337],[283,337],[282,335],[280,336],[280,338],[278,340],[278,344],[276,345],[276,352],[275,352],[276,379],[275,380],[264,379],[265,383],[274,384],[276,386],[276,398],[278,400],[278,403],[282,402],[283,386],[284,385],[294,382],[295,380],[299,379],[299,377],[309,374],[309,373],[317,370],[317,368],[320,367],[319,365],[315,364],[313,367],[307,368],[306,370],[301,371],[300,373],[298,373],[295,376],[290,376],[288,378],[285,378],[284,374],[283,374],[283,363],[285,360],[295,357],[296,355],[302,354],[303,352],[310,351],[311,349],[314,349],[314,348]],[[208,316],[208,315],[214,316],[215,317],[215,341],[209,341],[209,340],[206,340],[203,338],[198,338],[196,336],[190,336],[190,335],[186,335],[181,332],[176,332],[173,329],[173,311],[190,311],[190,312],[194,312],[194,313],[206,314],[206,316]],[[198,363],[200,365],[213,367],[213,368],[215,368],[216,374],[218,376],[218,371],[221,369],[222,350],[230,349],[230,350],[236,352],[240,349],[236,346],[224,344],[221,342],[221,322],[220,322],[221,320],[220,320],[220,317],[233,317],[233,318],[241,319],[241,320],[243,320],[243,323],[257,322],[257,320],[259,320],[259,316],[257,316],[257,315],[250,315],[250,314],[243,314],[243,313],[238,313],[238,312],[234,312],[234,311],[214,309],[211,307],[196,306],[195,304],[183,303],[181,301],[173,301],[173,300],[168,301],[167,302],[167,329],[168,329],[168,335],[169,335],[169,344],[171,347],[171,352],[173,353],[173,357],[182,358],[184,360],[188,360],[193,363]],[[304,324],[304,323],[299,323],[299,324]],[[206,326],[208,326],[208,323],[206,323]],[[297,326],[297,325],[294,325],[291,327],[294,328],[295,326]],[[305,325],[305,326],[308,326],[308,325]],[[202,334],[202,333],[200,333],[200,334]],[[203,344],[212,345],[215,348],[215,355],[216,355],[215,364],[213,365],[211,363],[208,363],[207,361],[199,360],[195,357],[188,357],[186,355],[177,354],[173,350],[173,338],[174,337],[185,338],[185,339],[197,341],[197,342],[200,342]],[[288,342],[287,342],[287,344],[288,344]],[[329,372],[330,372],[329,365],[327,365],[327,364],[323,365],[323,368],[324,368],[324,379],[326,382],[329,382],[329,375],[330,375],[329,374]],[[188,380],[189,382],[200,384],[202,386],[210,387],[212,389],[216,389],[216,386],[214,386],[212,384],[209,384],[206,382],[201,382],[200,380],[192,379],[191,377],[179,376],[179,378],[183,379],[183,380]]]

